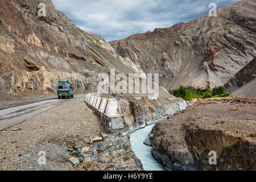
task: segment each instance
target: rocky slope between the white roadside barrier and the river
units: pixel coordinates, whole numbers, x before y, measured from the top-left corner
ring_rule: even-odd
[[[148,100],[145,97],[134,99],[133,97],[115,96],[115,98],[118,100],[118,113],[125,118],[129,133],[166,119],[168,115],[174,115],[177,111],[186,109],[192,104],[191,101],[174,96],[159,97],[156,100]]]

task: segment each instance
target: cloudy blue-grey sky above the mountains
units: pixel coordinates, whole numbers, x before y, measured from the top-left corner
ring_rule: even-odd
[[[209,3],[217,8],[238,0],[52,0],[76,26],[107,41],[171,27],[207,15]]]

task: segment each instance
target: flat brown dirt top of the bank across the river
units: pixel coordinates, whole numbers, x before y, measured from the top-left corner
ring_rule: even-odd
[[[240,98],[200,100],[188,109],[170,116],[170,119],[159,121],[155,129],[158,127],[157,135],[179,133],[183,126],[191,124],[201,129],[222,131],[224,134],[246,138],[256,143],[256,100]],[[173,125],[176,127],[172,127]],[[179,135],[176,137],[179,138]]]

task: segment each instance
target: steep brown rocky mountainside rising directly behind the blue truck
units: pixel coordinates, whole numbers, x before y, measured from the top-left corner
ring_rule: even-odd
[[[39,17],[39,3],[46,16]],[[0,1],[0,92],[18,96],[56,91],[72,80],[77,92],[95,90],[97,73],[134,73],[110,44],[76,27],[50,0]]]

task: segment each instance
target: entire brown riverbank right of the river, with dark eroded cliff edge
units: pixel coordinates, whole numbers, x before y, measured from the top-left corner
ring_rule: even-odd
[[[256,101],[201,100],[159,121],[146,143],[171,170],[255,170]],[[209,152],[217,164],[209,164]]]

